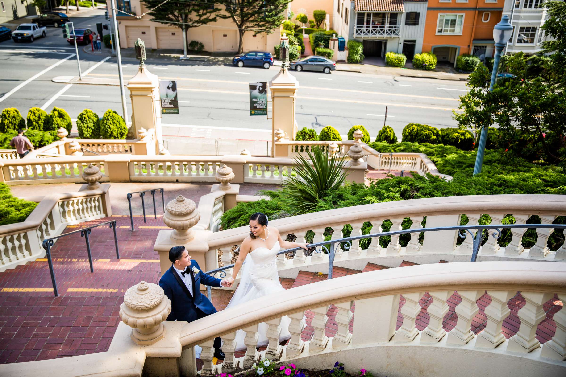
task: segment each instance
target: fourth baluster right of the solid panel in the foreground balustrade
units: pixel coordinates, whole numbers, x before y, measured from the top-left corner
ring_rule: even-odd
[[[516,292],[510,291],[487,291],[491,297],[491,304],[485,309],[487,323],[486,328],[478,334],[475,340],[476,347],[496,348],[505,341],[505,336],[501,333],[501,325],[511,310],[507,302],[511,300]]]

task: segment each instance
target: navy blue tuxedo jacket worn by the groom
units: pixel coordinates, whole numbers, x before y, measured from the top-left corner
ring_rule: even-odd
[[[199,273],[192,272],[192,267],[199,269]],[[163,288],[169,300],[171,300],[171,313],[167,320],[186,320],[192,322],[199,318],[204,317],[201,313],[196,311],[198,307],[202,313],[209,315],[216,313],[216,309],[212,306],[212,302],[208,297],[200,293],[200,285],[211,285],[212,287],[221,287],[221,279],[213,278],[205,274],[199,264],[194,259],[191,259],[191,279],[192,279],[192,292],[188,292],[188,288],[183,283],[181,276],[175,271],[175,267],[171,266],[159,280],[159,286]]]

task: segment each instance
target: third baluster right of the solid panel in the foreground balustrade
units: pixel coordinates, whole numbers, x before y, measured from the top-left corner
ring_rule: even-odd
[[[471,331],[471,320],[478,314],[479,307],[476,304],[478,298],[482,297],[484,291],[458,291],[462,302],[456,306],[458,320],[456,326],[448,334],[448,344],[465,345],[474,337]]]

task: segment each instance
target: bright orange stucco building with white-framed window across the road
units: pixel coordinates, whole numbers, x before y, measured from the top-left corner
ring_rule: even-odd
[[[462,54],[480,59],[494,54],[493,29],[504,0],[428,0],[423,51],[439,62],[456,63]]]

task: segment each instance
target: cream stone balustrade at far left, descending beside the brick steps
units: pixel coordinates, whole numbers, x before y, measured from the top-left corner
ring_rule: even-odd
[[[0,272],[44,256],[41,242],[61,234],[67,225],[112,215],[110,185],[95,190],[86,186],[78,192],[28,198],[39,202],[28,218],[0,226]]]

